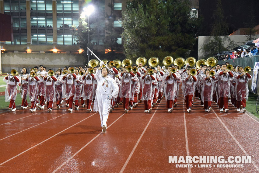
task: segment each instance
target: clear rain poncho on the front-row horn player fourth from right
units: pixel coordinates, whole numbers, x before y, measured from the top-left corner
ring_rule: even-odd
[[[197,81],[194,81],[193,77],[191,76],[189,79],[187,79],[189,75],[187,73],[183,74],[182,77],[182,84],[184,84],[184,97],[187,95],[194,95],[194,87]],[[194,77],[197,79],[197,76],[194,75]]]

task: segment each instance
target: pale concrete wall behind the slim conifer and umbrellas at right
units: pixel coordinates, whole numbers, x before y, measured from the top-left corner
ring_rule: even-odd
[[[198,59],[207,59],[208,57],[204,57],[204,54],[201,50],[201,47],[203,44],[208,43],[210,36],[199,36],[198,40]],[[232,41],[235,41],[238,46],[243,45],[247,41],[246,35],[239,35],[239,36],[228,36]],[[259,38],[259,35],[257,35],[257,38]],[[227,47],[227,44],[225,45]]]

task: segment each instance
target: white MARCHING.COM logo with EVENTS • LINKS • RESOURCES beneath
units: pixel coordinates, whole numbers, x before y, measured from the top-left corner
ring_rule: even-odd
[[[168,156],[168,163],[176,163],[176,168],[243,168],[251,156]]]

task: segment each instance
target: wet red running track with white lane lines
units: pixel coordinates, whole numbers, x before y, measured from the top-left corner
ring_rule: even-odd
[[[180,92],[181,93],[181,92]],[[259,172],[259,123],[247,114],[206,113],[184,100],[168,113],[163,99],[151,114],[144,105],[124,114],[115,108],[101,133],[99,113],[86,109],[28,109],[0,114],[1,173],[85,172]],[[244,168],[176,168],[168,156],[251,156]],[[180,163],[179,163],[180,164]],[[219,163],[218,163],[219,164]]]

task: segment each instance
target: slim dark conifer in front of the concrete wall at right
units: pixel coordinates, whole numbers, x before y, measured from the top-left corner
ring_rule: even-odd
[[[215,56],[222,51],[232,50],[237,46],[234,41],[226,36],[229,30],[226,19],[224,18],[221,0],[217,0],[216,10],[212,15],[212,20],[214,22],[212,24],[211,36],[208,37],[208,40],[201,47],[205,57]],[[225,47],[226,44],[227,46]]]

